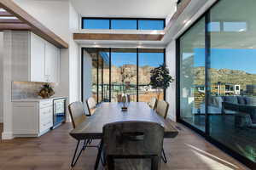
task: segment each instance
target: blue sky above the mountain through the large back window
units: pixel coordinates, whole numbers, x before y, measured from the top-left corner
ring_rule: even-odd
[[[136,53],[112,53],[111,54],[112,65],[137,65]],[[164,54],[161,53],[139,53],[139,65],[140,66],[154,66],[157,67],[164,62]]]

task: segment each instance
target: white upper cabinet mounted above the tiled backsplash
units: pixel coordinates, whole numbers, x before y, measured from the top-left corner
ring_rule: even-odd
[[[12,32],[13,81],[59,82],[60,48],[31,31]]]

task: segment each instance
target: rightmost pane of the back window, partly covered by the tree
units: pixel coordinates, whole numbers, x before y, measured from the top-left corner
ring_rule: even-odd
[[[164,49],[139,49],[138,51],[138,100],[148,102],[158,98],[157,89],[150,86],[150,71],[163,65]],[[160,99],[164,99],[164,90],[160,90]]]

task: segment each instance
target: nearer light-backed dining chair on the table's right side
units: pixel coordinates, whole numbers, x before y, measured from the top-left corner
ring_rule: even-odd
[[[155,112],[166,119],[169,110],[169,104],[166,101],[160,100],[157,102]],[[162,160],[167,163],[166,152],[162,149]]]

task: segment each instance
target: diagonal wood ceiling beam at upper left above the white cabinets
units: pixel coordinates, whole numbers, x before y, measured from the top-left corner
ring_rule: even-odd
[[[33,18],[32,15],[27,14],[24,9],[20,8],[12,0],[0,0],[0,6],[30,26],[31,31],[37,34],[39,37],[43,37],[48,42],[55,44],[55,46],[58,48],[68,48],[67,42],[63,41],[61,37],[55,35],[53,31],[50,31],[38,20]]]

